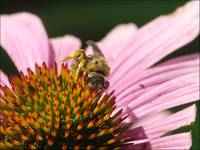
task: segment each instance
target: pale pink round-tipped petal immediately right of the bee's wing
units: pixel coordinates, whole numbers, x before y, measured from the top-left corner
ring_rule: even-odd
[[[135,24],[121,24],[112,29],[97,43],[110,64],[116,61],[115,57],[132,41],[136,31]],[[92,54],[91,48],[88,48],[87,52]]]

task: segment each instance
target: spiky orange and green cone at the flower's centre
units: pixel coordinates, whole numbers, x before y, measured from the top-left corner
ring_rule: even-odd
[[[67,65],[35,65],[27,75],[10,78],[12,89],[0,85],[0,149],[114,149],[127,139],[122,110],[112,93],[90,89],[87,75],[76,83]],[[104,95],[104,96],[103,96]]]

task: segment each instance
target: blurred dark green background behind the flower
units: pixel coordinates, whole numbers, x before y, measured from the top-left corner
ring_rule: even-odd
[[[88,39],[100,40],[120,23],[134,22],[140,27],[161,14],[174,11],[175,8],[185,4],[186,1],[1,1],[0,3],[1,14],[28,11],[38,15],[42,19],[49,37],[73,34],[85,43]],[[199,51],[199,37],[166,59],[197,51]],[[17,73],[13,63],[2,49],[0,56],[0,69],[7,74]],[[200,147],[199,106],[198,104],[197,121],[192,125],[192,149],[199,149]],[[177,109],[172,109],[172,111]],[[188,131],[188,128],[181,130]]]

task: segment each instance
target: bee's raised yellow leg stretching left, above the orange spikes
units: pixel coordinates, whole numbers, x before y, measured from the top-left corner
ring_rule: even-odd
[[[85,51],[83,49],[79,49],[76,51],[73,51],[69,56],[61,60],[60,62],[65,62],[67,60],[73,59],[73,58],[78,58],[80,57],[81,60],[86,58]]]

